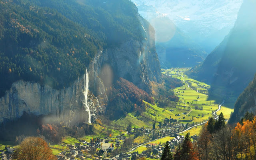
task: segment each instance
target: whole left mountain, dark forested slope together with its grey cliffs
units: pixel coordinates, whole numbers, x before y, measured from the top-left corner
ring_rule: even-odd
[[[0,12],[0,122],[25,111],[78,124],[85,90],[94,122],[119,78],[149,95],[162,81],[154,28],[130,0],[0,0]]]

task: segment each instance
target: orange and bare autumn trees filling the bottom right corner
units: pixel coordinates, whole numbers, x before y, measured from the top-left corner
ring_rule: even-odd
[[[199,160],[256,160],[256,117],[252,114],[247,113],[235,128],[226,125],[210,133],[207,127],[196,142]]]

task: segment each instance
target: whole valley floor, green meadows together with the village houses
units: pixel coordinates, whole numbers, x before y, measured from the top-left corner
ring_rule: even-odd
[[[188,68],[162,70],[162,74],[182,80],[183,86],[172,90],[174,95],[180,98],[178,102],[164,108],[160,108],[158,103],[149,104],[144,102],[146,110],[141,114],[136,112],[128,113],[126,116],[118,120],[112,120],[107,124],[97,120],[97,124],[92,124],[93,135],[80,138],[67,136],[58,145],[49,144],[54,155],[61,156],[60,152],[62,151],[71,152],[72,148],[80,148],[83,154],[87,155],[88,159],[95,159],[97,157],[100,158],[100,156],[92,153],[92,150],[99,152],[100,150],[112,149],[119,150],[117,152],[118,156],[120,156],[120,153],[125,152],[124,155],[131,158],[131,154],[134,154],[134,152],[139,153],[140,156],[145,156],[145,153],[149,150],[148,146],[152,146],[154,154],[151,154],[148,158],[158,158],[158,155],[162,152],[161,144],[171,141],[179,132],[186,130],[186,128],[206,122],[210,117],[215,118],[216,116],[213,113],[222,103],[208,100],[208,89],[210,86],[188,78],[184,74],[186,70]],[[224,103],[216,114],[222,112],[225,119],[228,120],[232,111],[233,109],[228,108]],[[131,128],[127,130],[126,128],[129,124]],[[154,124],[156,129],[152,130]],[[202,125],[195,126],[186,132],[180,133],[180,136],[190,133],[191,136],[196,138],[195,135],[199,134],[201,128]],[[125,144],[128,145],[128,148],[126,151],[121,151],[123,150],[122,146],[126,143],[124,142],[126,138],[132,139],[132,145]],[[97,142],[94,139],[98,139]],[[2,144],[0,144],[0,149],[5,146]],[[177,143],[173,141],[172,149],[176,145]],[[75,152],[71,156],[77,155],[78,152]],[[103,155],[108,158],[115,156],[108,152],[104,152]],[[76,159],[82,158],[78,157]]]

